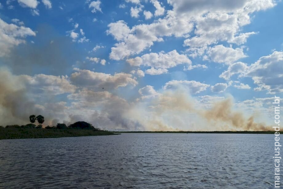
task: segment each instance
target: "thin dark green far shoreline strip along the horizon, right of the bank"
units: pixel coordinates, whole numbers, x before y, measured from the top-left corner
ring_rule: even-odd
[[[115,133],[227,133],[227,134],[274,134],[274,131],[115,131]]]

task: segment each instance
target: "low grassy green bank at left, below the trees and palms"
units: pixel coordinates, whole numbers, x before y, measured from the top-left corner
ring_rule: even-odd
[[[118,135],[110,131],[91,129],[38,129],[38,128],[0,128],[0,140],[26,138],[59,138],[75,136]]]

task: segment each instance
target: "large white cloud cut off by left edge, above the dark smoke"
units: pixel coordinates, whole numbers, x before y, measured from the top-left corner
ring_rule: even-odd
[[[9,56],[10,49],[26,41],[27,36],[35,36],[28,27],[8,24],[0,18],[0,57]]]

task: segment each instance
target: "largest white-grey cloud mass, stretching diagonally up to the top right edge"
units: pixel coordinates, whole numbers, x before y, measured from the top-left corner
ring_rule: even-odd
[[[153,1],[158,2],[158,1]],[[186,37],[184,45],[201,48],[217,44],[219,41],[235,43],[246,42],[247,38],[256,32],[241,33],[242,26],[250,23],[250,14],[266,10],[276,5],[274,1],[241,0],[237,3],[227,3],[223,0],[217,2],[203,1],[202,3],[186,1],[168,1],[173,10],[168,10],[164,18],[151,24],[140,24],[129,28],[119,27],[118,22],[108,25],[116,30],[109,32],[115,38],[115,33],[128,28],[123,38],[111,48],[110,58],[121,60],[133,54],[141,53],[153,45],[153,42],[162,41],[164,36]],[[124,21],[123,21],[124,22]],[[126,23],[125,23],[126,25]],[[194,30],[194,37],[189,33]],[[235,60],[234,60],[235,61]]]

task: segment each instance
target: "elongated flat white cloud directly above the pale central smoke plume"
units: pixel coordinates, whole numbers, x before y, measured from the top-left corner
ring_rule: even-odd
[[[163,86],[163,89],[171,89],[171,90],[176,90],[180,88],[184,88],[189,90],[191,94],[197,94],[202,91],[205,91],[206,88],[208,88],[210,85],[201,83],[199,81],[176,81],[172,80]]]

